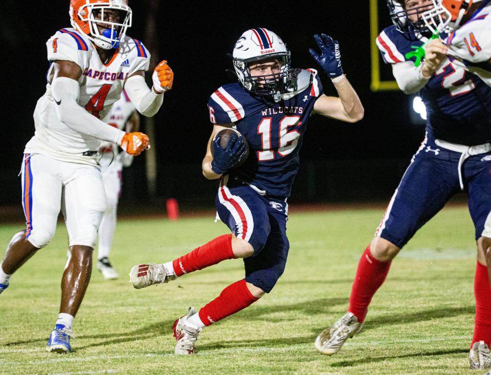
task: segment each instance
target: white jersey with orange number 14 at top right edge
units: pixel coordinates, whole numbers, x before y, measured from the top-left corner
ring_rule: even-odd
[[[486,5],[444,42],[457,58],[455,64],[491,86],[491,5]]]

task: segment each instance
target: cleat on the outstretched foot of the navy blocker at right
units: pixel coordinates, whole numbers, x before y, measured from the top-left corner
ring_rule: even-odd
[[[362,327],[363,323],[360,323],[353,313],[348,312],[317,336],[316,349],[328,356],[336,354],[345,341],[359,333]]]

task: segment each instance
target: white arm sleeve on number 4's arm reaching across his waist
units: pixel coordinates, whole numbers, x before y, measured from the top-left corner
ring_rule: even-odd
[[[72,130],[102,141],[121,144],[125,132],[89,114],[78,105],[80,86],[68,77],[57,77],[51,84],[53,99],[56,102],[56,114],[59,120]]]

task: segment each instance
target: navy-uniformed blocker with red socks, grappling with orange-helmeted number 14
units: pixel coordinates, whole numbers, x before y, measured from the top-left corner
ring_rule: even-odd
[[[431,0],[388,3],[395,25],[378,35],[377,46],[384,60],[392,65],[400,89],[407,94],[419,91],[428,112],[426,135],[360,259],[348,312],[319,335],[316,347],[324,354],[335,354],[360,331],[371,298],[384,282],[391,260],[421,226],[463,190],[468,193],[478,247],[472,347],[484,348],[491,341],[491,290],[481,237],[491,209],[491,87],[449,58],[438,39],[426,45],[426,59],[415,67],[414,58],[408,60],[405,55],[412,51],[412,46],[421,46],[428,40],[421,13],[432,10],[434,3]],[[463,22],[465,19],[472,22],[472,15],[483,11],[487,3],[484,1],[481,6],[476,3]],[[488,367],[489,350],[482,350],[487,350]],[[477,355],[477,364],[472,360],[475,350],[471,350],[470,356],[471,368],[482,365],[479,364],[482,356]]]

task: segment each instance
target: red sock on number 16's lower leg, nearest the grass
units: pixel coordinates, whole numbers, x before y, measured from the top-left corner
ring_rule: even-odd
[[[258,299],[251,294],[245,279],[242,279],[227,286],[218,297],[203,306],[198,313],[199,319],[205,325],[210,325],[239,312]]]

